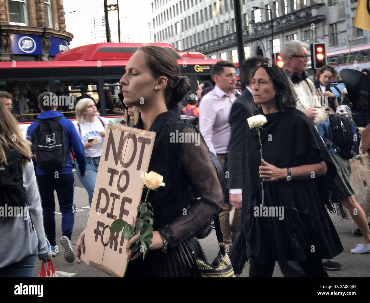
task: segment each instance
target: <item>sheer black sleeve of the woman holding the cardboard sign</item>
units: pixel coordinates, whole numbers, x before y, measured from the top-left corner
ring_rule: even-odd
[[[221,185],[205,144],[192,128],[185,127],[181,131],[191,136],[194,133],[195,138],[199,139],[195,143],[178,143],[176,149],[182,169],[198,193],[195,196],[199,197],[192,200],[186,212],[158,230],[172,247],[193,238],[200,229],[212,222],[223,206]]]

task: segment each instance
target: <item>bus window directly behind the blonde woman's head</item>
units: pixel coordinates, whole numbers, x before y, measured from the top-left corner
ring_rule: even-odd
[[[55,94],[58,96],[58,110],[64,117],[75,118],[75,106],[81,97],[99,102],[98,79],[60,79],[54,80]]]

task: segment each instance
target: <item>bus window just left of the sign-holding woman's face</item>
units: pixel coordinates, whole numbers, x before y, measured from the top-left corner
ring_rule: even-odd
[[[125,115],[120,79],[105,79],[103,88],[107,115]]]

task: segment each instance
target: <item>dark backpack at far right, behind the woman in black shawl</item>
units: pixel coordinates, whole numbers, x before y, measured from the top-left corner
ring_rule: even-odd
[[[361,135],[356,124],[344,115],[329,115],[333,140],[324,138],[327,145],[335,148],[344,159],[354,159],[359,154]]]

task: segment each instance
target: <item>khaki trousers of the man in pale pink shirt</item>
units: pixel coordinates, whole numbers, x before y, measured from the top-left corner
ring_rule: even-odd
[[[225,161],[225,155],[226,154],[218,154],[217,158],[220,162],[221,166],[223,167],[223,162]],[[228,195],[228,192],[225,192],[225,195]],[[235,209],[234,212],[234,218],[232,220],[232,223],[230,224],[230,212],[232,211],[234,207],[230,204],[225,203],[223,205],[221,213],[218,215],[218,218],[220,220],[220,227],[221,231],[223,233],[223,244],[229,247],[232,245],[232,241],[236,235],[236,233],[240,229],[240,219],[242,215],[241,209]]]

